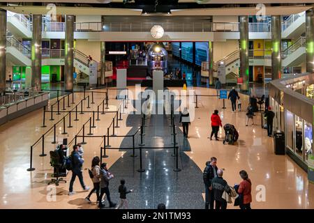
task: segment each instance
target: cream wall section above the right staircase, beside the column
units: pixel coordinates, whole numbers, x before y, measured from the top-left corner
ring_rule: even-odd
[[[239,49],[239,40],[227,40],[214,42],[214,61],[219,61],[223,57]]]

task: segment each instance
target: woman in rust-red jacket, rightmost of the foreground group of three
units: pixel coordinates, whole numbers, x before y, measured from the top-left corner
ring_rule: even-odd
[[[239,203],[241,209],[251,209],[252,202],[252,183],[250,178],[248,178],[248,173],[245,170],[239,172],[242,181],[239,185],[238,193],[242,196],[242,201]]]

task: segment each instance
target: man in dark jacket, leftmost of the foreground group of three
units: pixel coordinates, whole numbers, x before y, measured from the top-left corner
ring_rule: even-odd
[[[214,193],[210,190],[211,180],[217,176],[217,158],[211,157],[211,161],[206,162],[206,167],[203,172],[203,180],[205,184],[205,209],[214,209]]]

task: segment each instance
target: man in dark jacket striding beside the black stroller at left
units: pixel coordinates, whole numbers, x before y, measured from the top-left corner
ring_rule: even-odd
[[[80,157],[79,153],[79,146],[75,145],[73,146],[73,152],[71,154],[72,157],[72,178],[70,180],[70,188],[69,188],[69,192],[68,195],[72,195],[75,192],[73,192],[73,183],[74,180],[76,178],[76,176],[78,176],[80,183],[83,187],[83,190],[88,191],[89,187],[85,186],[84,184],[84,180],[83,180],[83,175],[82,175],[82,165],[84,160]]]

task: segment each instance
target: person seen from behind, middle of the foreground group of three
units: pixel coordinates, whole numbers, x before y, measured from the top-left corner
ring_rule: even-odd
[[[222,169],[218,169],[217,176],[211,180],[211,190],[214,190],[215,209],[227,209],[227,201],[222,197],[223,192],[230,193],[230,187],[223,179]]]

